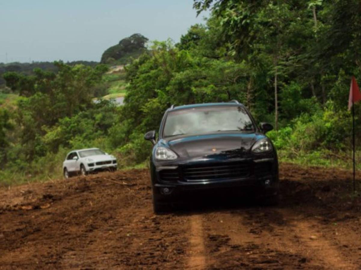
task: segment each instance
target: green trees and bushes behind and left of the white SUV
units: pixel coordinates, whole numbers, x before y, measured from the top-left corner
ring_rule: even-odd
[[[101,144],[117,120],[119,107],[114,102],[93,101],[99,85],[106,85],[103,75],[108,67],[54,64],[57,73],[35,69],[29,76],[4,75],[19,97],[16,107],[0,107],[0,178],[20,177],[18,173],[59,175],[66,151]]]

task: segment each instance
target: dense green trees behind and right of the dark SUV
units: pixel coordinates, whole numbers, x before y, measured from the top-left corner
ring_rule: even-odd
[[[156,129],[171,104],[238,99],[258,121],[274,124],[270,136],[282,154],[323,149],[327,158],[350,149],[349,83],[361,78],[359,1],[195,0],[194,7],[212,9],[205,26],[192,26],[175,46],[155,43],[128,68],[120,143]]]

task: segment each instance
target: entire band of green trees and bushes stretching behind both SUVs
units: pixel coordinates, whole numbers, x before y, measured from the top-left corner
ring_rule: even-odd
[[[351,76],[361,82],[359,1],[195,0],[194,8],[211,9],[210,18],[178,44],[155,41],[144,52],[147,39],[136,34],[104,52],[102,62],[110,64],[125,52],[144,52],[126,67],[127,84],[119,83],[126,85],[122,107],[92,102],[109,93],[103,65],[5,73],[21,97],[15,108],[0,109],[4,171],[38,174],[46,161],[47,173],[61,173],[67,150],[90,146],[116,154],[124,166],[141,163],[151,148],[144,132],[158,128],[171,104],[231,99],[274,124],[268,135],[282,159],[347,164]],[[355,113],[359,127],[358,104]]]

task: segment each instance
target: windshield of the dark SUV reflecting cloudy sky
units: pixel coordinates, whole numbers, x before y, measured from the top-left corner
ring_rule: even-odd
[[[163,136],[253,130],[252,121],[244,107],[212,106],[169,112]]]

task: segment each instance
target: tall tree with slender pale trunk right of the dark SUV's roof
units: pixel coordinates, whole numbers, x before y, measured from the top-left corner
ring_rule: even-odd
[[[260,71],[257,62],[266,63],[273,76],[275,129],[279,121],[279,88],[282,80],[294,72],[297,63],[292,59],[303,51],[303,38],[309,37],[308,18],[303,17],[305,1],[234,1],[195,0],[197,12],[212,8],[219,18],[229,55],[236,61],[246,61],[253,74]],[[252,85],[252,77],[249,78]],[[264,79],[267,81],[269,78]],[[280,81],[281,80],[281,81]]]

